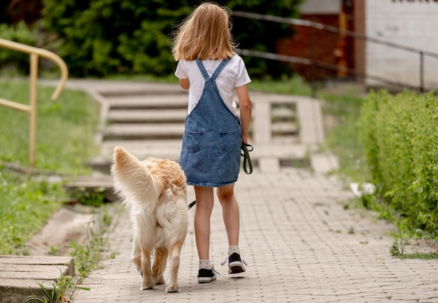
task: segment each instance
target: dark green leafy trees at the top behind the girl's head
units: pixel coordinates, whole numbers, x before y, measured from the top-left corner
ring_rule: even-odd
[[[71,76],[110,76],[117,73],[172,75],[171,34],[199,0],[45,0],[45,30],[56,34],[54,51]],[[297,17],[302,0],[218,1],[232,10]],[[233,17],[233,35],[241,48],[275,52],[278,38],[291,36],[290,26]],[[276,33],[276,34],[272,34]],[[287,64],[246,58],[252,77],[281,78]]]

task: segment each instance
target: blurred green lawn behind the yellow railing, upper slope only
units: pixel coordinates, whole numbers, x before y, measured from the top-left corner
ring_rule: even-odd
[[[38,86],[35,167],[84,174],[97,153],[94,134],[99,106],[85,92],[64,90],[57,101],[53,87]],[[0,81],[0,98],[29,104],[29,80]],[[0,106],[0,161],[29,164],[29,114]]]

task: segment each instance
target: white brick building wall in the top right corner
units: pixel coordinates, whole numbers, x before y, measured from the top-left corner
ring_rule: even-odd
[[[365,11],[367,36],[438,54],[438,0],[365,0]],[[420,55],[372,42],[365,49],[367,74],[420,85]],[[438,57],[426,56],[426,88],[438,87],[437,71]]]

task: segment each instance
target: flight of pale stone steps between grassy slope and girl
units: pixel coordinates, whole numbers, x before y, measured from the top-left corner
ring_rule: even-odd
[[[115,146],[123,146],[140,159],[162,157],[178,161],[187,113],[185,92],[104,97],[108,101],[100,143],[104,162],[111,158]]]

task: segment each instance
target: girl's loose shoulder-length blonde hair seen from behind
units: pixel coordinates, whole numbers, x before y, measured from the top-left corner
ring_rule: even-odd
[[[198,6],[178,27],[172,55],[175,60],[225,59],[236,53],[227,8],[206,2]]]

